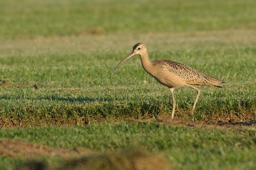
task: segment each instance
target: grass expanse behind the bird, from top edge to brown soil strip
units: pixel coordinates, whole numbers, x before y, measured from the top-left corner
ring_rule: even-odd
[[[255,120],[254,1],[15,1],[1,3],[2,127],[88,124],[168,115],[168,89],[129,59],[132,45],[227,83],[202,87],[193,120]],[[146,5],[147,4],[147,5]],[[12,7],[12,8],[11,8]],[[204,17],[202,17],[204,16]],[[175,90],[192,118],[195,91]]]

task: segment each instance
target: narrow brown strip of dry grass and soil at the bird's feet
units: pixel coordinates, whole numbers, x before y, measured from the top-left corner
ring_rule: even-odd
[[[189,112],[188,114],[191,114]],[[17,120],[16,118],[0,118],[0,127],[1,128],[26,128],[26,127],[45,127],[45,126],[74,126],[74,125],[90,125],[91,123],[116,123],[120,121],[158,121],[160,123],[168,124],[168,125],[184,125],[188,127],[253,127],[256,128],[256,119],[255,115],[252,114],[252,111],[243,111],[243,114],[240,117],[234,116],[234,114],[214,114],[213,116],[205,117],[203,121],[193,121],[188,118],[179,118],[175,117],[173,120],[170,118],[170,113],[161,113],[156,118],[152,117],[152,115],[146,114],[141,118],[134,118],[133,116],[124,116],[120,118],[114,118],[112,116],[102,117],[102,116],[73,116],[70,118],[64,118],[62,115],[55,114],[54,117],[51,115],[45,115],[44,117],[35,118],[33,116],[26,116],[26,118],[22,118]]]

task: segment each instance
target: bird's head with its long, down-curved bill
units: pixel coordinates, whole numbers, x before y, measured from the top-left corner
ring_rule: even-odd
[[[126,56],[120,63],[118,63],[118,65],[116,66],[116,68],[118,68],[118,66],[122,65],[122,63],[124,63],[124,61],[126,61],[127,59],[131,58],[132,56],[135,56],[136,54],[143,54],[147,52],[146,46],[143,43],[136,43],[133,48],[132,48],[132,52]],[[110,78],[112,77],[113,73],[115,72],[116,68],[113,70],[113,72],[111,73]]]

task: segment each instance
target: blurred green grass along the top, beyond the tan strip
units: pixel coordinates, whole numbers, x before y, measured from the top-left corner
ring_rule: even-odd
[[[19,5],[18,5],[19,4]],[[3,1],[1,36],[255,29],[255,7],[246,1]]]

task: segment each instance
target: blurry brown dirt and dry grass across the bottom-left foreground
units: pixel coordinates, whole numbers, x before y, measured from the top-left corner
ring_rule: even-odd
[[[164,155],[149,155],[141,149],[96,153],[86,148],[67,150],[15,140],[0,140],[0,155],[26,158],[16,169],[170,169]],[[63,158],[61,164],[49,165],[40,157]]]

